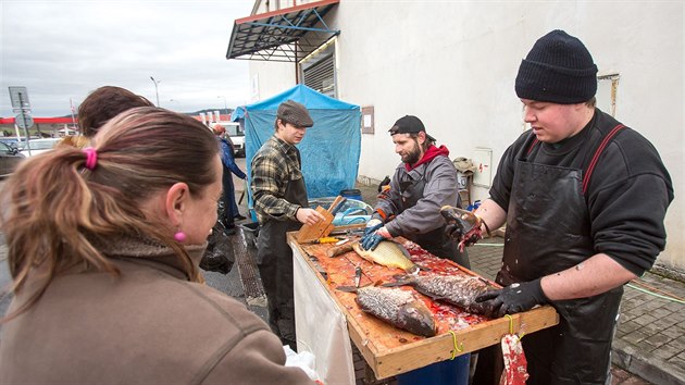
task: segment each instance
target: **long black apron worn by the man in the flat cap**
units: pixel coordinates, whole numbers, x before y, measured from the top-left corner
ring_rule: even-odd
[[[298,154],[299,160],[299,154]],[[299,163],[299,162],[298,162]],[[308,207],[304,177],[299,169],[289,170],[289,181],[283,197],[290,203]],[[269,325],[284,345],[297,351],[295,335],[295,300],[292,291],[292,249],[286,233],[299,229],[299,221],[269,220],[259,231],[257,258],[259,273],[269,300]]]

